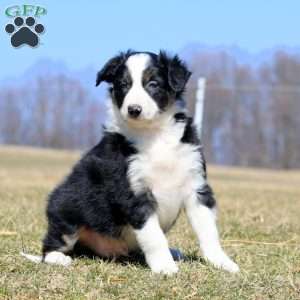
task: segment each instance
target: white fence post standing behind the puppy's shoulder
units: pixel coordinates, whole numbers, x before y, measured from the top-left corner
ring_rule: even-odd
[[[195,115],[194,115],[194,124],[196,126],[199,138],[201,138],[202,136],[205,85],[206,85],[206,79],[204,77],[199,77],[197,92],[196,92],[196,105],[195,105]]]

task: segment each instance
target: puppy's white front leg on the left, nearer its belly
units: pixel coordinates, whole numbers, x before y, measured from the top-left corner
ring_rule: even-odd
[[[168,241],[159,225],[157,214],[152,214],[143,227],[134,229],[134,232],[152,272],[171,275],[178,271]]]

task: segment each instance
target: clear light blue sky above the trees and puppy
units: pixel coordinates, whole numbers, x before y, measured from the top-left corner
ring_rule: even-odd
[[[46,32],[35,49],[14,49],[4,31],[5,9],[41,5]],[[41,58],[71,69],[100,67],[120,50],[178,52],[190,43],[237,45],[249,52],[300,45],[300,1],[0,0],[0,79],[18,76]]]

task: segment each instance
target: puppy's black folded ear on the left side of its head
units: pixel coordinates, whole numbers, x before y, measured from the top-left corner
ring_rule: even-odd
[[[98,86],[102,81],[112,83],[118,69],[125,63],[129,55],[130,50],[126,53],[121,52],[119,55],[111,58],[97,73],[96,86]]]

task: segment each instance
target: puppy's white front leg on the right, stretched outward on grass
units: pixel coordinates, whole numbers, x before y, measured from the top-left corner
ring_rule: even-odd
[[[219,241],[216,216],[214,209],[215,200],[208,185],[197,194],[187,199],[185,203],[187,216],[197,234],[204,257],[215,267],[229,272],[238,272],[239,267],[224,252]]]

